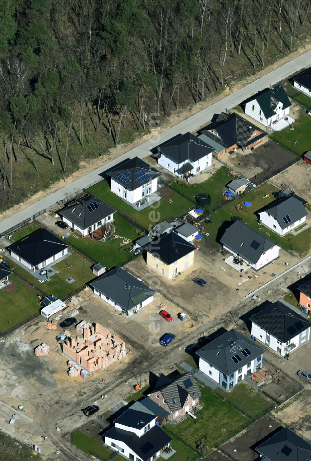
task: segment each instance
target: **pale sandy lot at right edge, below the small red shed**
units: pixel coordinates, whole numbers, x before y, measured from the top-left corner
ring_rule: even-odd
[[[271,182],[281,189],[292,188],[297,195],[311,203],[311,165],[299,162],[290,166],[286,171],[276,175]]]

